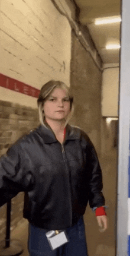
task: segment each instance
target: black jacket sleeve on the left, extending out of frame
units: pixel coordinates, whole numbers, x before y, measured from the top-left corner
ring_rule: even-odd
[[[19,144],[14,144],[0,159],[0,207],[15,197],[18,192],[27,191],[31,185],[31,173],[27,172],[24,154]]]

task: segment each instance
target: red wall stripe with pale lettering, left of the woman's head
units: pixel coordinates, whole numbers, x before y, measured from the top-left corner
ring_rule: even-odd
[[[28,86],[28,84],[24,84],[13,78],[6,77],[6,75],[3,74],[0,74],[0,86],[35,98],[38,98],[40,93],[40,90],[35,89],[32,86]]]

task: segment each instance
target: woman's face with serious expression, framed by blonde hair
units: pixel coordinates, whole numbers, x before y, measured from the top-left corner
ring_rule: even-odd
[[[65,89],[56,88],[43,105],[45,119],[61,121],[70,113],[70,100]]]

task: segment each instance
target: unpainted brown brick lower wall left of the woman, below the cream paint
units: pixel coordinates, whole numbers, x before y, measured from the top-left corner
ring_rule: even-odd
[[[19,137],[39,124],[38,110],[0,100],[0,156]],[[24,193],[12,199],[11,230],[23,221]],[[0,208],[0,241],[5,237],[6,204]]]

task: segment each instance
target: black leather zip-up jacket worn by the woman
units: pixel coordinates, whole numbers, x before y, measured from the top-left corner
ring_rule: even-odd
[[[105,204],[102,172],[89,137],[67,125],[63,146],[40,125],[0,161],[0,206],[25,192],[24,217],[44,229],[66,229],[90,207]]]

